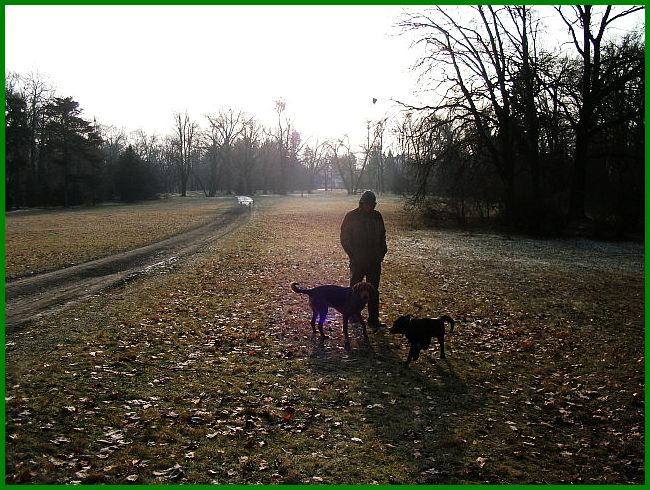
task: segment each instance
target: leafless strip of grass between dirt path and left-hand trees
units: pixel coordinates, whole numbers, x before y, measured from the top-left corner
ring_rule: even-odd
[[[205,223],[233,202],[188,196],[73,211],[7,213],[6,277],[60,269],[163,240]]]

